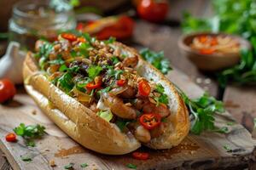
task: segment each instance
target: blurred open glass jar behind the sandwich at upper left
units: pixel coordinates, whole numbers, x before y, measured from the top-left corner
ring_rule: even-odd
[[[9,20],[9,41],[33,50],[39,38],[51,41],[57,33],[76,26],[73,8],[65,0],[23,0],[16,3]]]

